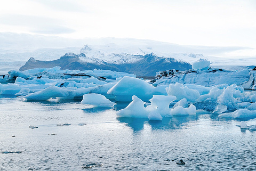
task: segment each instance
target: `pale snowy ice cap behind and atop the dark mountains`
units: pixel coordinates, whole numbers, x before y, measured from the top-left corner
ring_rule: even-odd
[[[65,53],[84,53],[86,58],[81,58],[84,62],[103,60],[108,63],[135,62],[139,59],[134,55],[154,53],[190,64],[207,59],[211,61],[211,66],[231,70],[241,70],[244,68],[241,66],[256,63],[256,49],[250,47],[188,46],[132,38],[70,39],[11,32],[0,33],[0,39],[0,74],[19,69],[30,57],[57,60]]]

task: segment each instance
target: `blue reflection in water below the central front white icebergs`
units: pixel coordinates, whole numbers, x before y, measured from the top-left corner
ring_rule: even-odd
[[[148,120],[145,118],[117,118],[121,123],[126,123],[134,132],[142,131],[144,124],[149,124],[152,130],[162,129],[180,129],[185,123],[197,120],[197,116],[179,116],[172,118],[163,118],[163,120]]]

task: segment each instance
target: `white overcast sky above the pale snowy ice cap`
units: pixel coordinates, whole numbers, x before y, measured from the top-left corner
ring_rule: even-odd
[[[8,0],[0,32],[256,47],[256,1]]]

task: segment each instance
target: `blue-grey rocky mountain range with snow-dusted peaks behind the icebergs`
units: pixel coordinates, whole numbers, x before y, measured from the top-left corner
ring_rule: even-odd
[[[191,69],[191,64],[188,62],[178,61],[174,58],[159,57],[154,53],[145,55],[127,53],[108,54],[100,51],[92,52],[92,49],[86,45],[82,48],[80,54],[66,53],[57,60],[41,61],[31,57],[26,64],[20,68],[20,71],[55,66],[69,70],[108,69],[112,71],[128,72],[139,77],[154,77],[156,72],[168,69]]]

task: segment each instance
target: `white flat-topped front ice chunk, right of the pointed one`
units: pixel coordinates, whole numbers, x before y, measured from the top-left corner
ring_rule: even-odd
[[[170,117],[169,105],[175,99],[176,97],[172,95],[153,95],[153,98],[149,100],[151,105],[148,105],[146,109],[156,111],[161,116]]]

